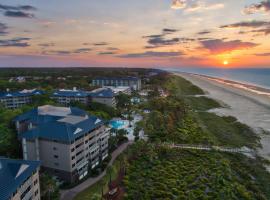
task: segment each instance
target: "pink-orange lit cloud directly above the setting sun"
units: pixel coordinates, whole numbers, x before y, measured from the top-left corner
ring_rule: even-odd
[[[241,40],[224,41],[222,39],[203,40],[201,44],[213,54],[221,54],[258,46],[258,44],[253,42],[242,42]]]

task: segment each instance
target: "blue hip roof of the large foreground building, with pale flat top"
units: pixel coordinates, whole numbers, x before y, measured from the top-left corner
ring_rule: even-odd
[[[55,109],[56,111],[41,114],[40,108],[45,110],[45,112],[48,109]],[[62,109],[65,110],[62,111]],[[84,110],[79,108],[53,106],[32,109],[17,116],[14,121],[27,121],[33,124],[33,129],[21,133],[19,135],[20,138],[43,138],[64,143],[70,143],[105,123],[102,119],[88,115]]]

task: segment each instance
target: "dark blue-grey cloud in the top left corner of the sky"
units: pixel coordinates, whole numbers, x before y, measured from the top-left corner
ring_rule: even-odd
[[[4,11],[4,15],[7,17],[33,18],[34,14],[28,13],[28,11],[35,11],[37,9],[30,5],[9,6],[0,4],[0,10]]]

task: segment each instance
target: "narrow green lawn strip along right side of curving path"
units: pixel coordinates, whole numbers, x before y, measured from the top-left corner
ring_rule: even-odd
[[[117,158],[111,168],[111,176],[112,180],[117,178],[118,171],[120,169],[120,159]],[[82,191],[79,193],[76,197],[75,200],[94,200],[94,199],[101,199],[101,192],[102,192],[102,187],[103,187],[103,193],[105,194],[108,192],[108,183],[110,181],[110,174],[107,170],[106,175],[98,181],[96,184],[90,186],[86,190]]]

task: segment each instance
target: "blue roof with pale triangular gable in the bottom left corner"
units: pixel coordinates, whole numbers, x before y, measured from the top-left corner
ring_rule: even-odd
[[[10,199],[17,188],[40,166],[39,161],[13,160],[0,157],[0,199]]]

